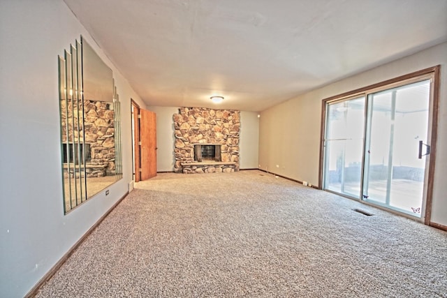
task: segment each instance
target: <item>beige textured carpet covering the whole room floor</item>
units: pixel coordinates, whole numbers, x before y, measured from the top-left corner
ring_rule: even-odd
[[[447,297],[447,233],[258,170],[159,174],[37,297]]]

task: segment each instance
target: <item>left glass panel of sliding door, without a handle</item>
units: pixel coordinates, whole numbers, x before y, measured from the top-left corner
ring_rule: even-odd
[[[365,97],[329,103],[323,188],[360,198]]]

